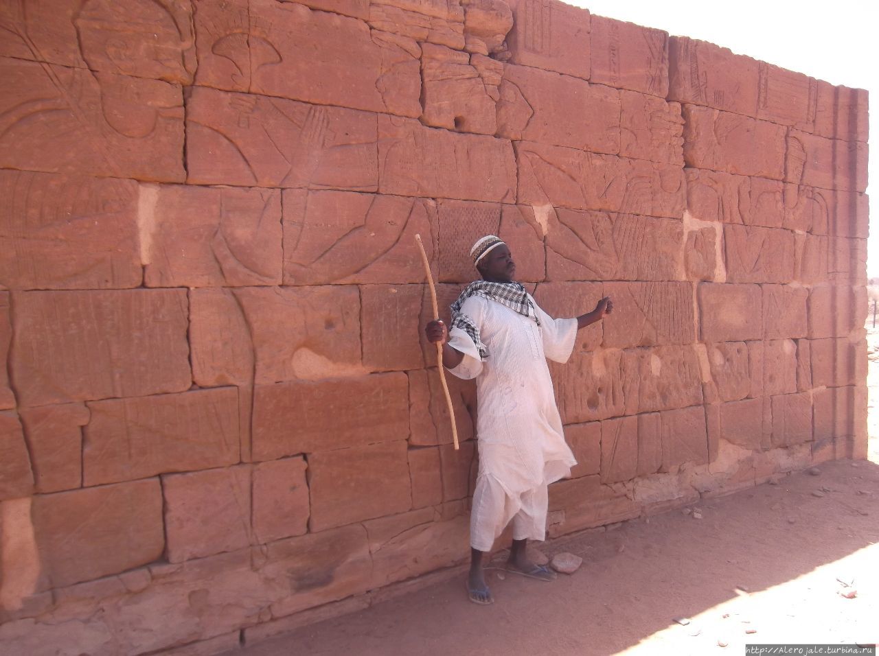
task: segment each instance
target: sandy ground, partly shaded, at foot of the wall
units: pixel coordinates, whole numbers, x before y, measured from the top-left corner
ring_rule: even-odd
[[[879,347],[879,329],[869,333]],[[872,358],[869,383],[870,435],[879,436]],[[469,603],[455,572],[233,653],[701,655],[879,640],[879,440],[868,461],[820,465],[698,508],[701,519],[686,508],[545,545],[584,559],[554,582],[492,570],[492,606]]]

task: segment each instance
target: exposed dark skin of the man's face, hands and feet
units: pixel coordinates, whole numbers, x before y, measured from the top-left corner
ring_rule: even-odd
[[[512,282],[516,274],[516,264],[512,260],[512,253],[506,244],[501,244],[492,249],[488,255],[484,256],[476,266],[479,275],[483,280],[492,283],[509,283]],[[585,328],[591,326],[597,321],[601,321],[607,314],[614,310],[614,303],[609,297],[599,300],[598,305],[592,312],[581,314],[577,317],[577,328]],[[442,346],[443,364],[449,368],[454,368],[461,364],[464,354],[459,350],[454,350],[448,345],[448,328],[442,321],[431,321],[425,326],[425,334],[430,342],[440,342]],[[468,574],[468,588],[471,595],[478,602],[490,603],[492,600],[491,592],[485,583],[485,575],[483,570],[484,551],[476,549],[470,550],[470,571]],[[506,561],[506,568],[518,570],[519,572],[534,572],[536,565],[534,561],[527,555],[527,540],[513,540],[510,547],[510,557]],[[546,580],[555,578],[548,573]]]

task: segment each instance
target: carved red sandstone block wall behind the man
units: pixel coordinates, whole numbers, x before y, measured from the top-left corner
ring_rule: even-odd
[[[558,536],[866,449],[867,97],[556,0],[0,4],[0,651],[208,652],[467,554],[505,237]],[[187,652],[192,653],[192,652]]]

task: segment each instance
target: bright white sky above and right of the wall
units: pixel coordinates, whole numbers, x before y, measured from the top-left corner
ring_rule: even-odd
[[[792,3],[779,0],[567,0],[593,14],[656,27],[675,36],[710,41],[760,61],[832,84],[866,89],[879,103],[879,3],[837,0]],[[873,61],[871,65],[869,62]],[[879,110],[870,112],[870,141],[879,134]],[[868,176],[879,176],[871,156]],[[869,193],[868,186],[867,192]],[[872,205],[872,203],[871,203]],[[872,208],[871,208],[872,209]],[[870,213],[871,228],[873,213]],[[870,230],[868,278],[879,277],[879,234]]]

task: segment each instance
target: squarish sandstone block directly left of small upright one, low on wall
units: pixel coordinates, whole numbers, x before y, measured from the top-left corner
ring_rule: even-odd
[[[251,544],[251,466],[162,477],[171,563],[235,551]]]

